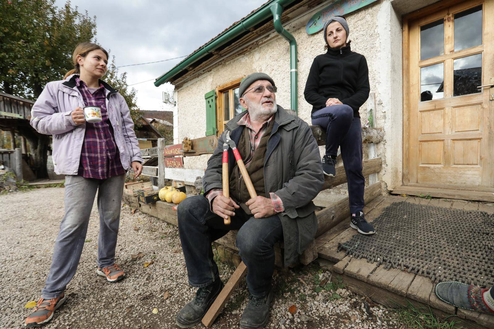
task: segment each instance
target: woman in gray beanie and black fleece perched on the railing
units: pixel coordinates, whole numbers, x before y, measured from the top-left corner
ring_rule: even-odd
[[[344,17],[324,24],[325,54],[314,58],[305,84],[305,100],[312,105],[312,124],[327,129],[323,170],[334,177],[338,146],[348,179],[350,226],[361,234],[375,230],[364,218],[362,126],[359,108],[369,97],[369,69],[364,55],[350,49],[350,29]]]

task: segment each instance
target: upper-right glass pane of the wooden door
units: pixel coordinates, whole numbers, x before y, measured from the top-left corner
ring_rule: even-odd
[[[454,51],[482,44],[482,5],[454,14]]]

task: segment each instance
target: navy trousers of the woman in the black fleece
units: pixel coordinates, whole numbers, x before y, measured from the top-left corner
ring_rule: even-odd
[[[331,105],[314,112],[313,125],[326,128],[326,155],[336,156],[341,150],[343,167],[348,181],[350,213],[364,208],[365,178],[362,175],[362,126],[360,118],[353,117],[348,105]]]

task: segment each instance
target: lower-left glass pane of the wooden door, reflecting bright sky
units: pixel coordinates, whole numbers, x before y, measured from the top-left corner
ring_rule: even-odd
[[[420,68],[420,101],[444,97],[444,63]]]

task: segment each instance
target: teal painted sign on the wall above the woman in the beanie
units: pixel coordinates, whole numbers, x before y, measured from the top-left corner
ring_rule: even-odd
[[[315,13],[307,23],[305,30],[307,31],[307,34],[317,33],[323,29],[324,23],[330,17],[348,14],[349,12],[365,7],[375,1],[376,0],[336,0],[329,4],[329,6]]]

